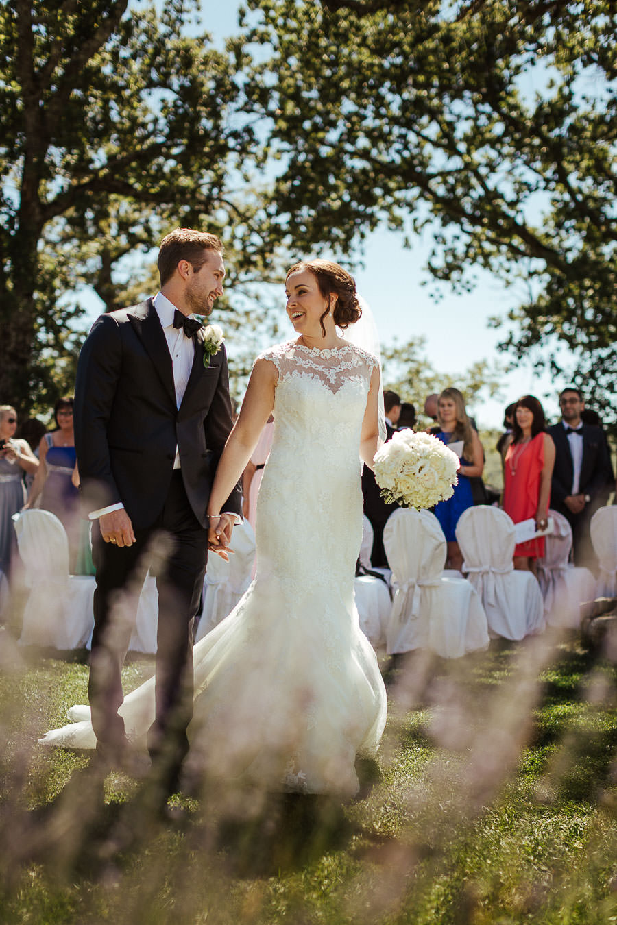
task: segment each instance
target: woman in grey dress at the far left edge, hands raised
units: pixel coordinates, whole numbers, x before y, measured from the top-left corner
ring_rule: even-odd
[[[7,577],[17,551],[12,517],[21,511],[26,499],[23,476],[39,468],[28,442],[16,438],[17,425],[15,408],[0,405],[0,571]]]

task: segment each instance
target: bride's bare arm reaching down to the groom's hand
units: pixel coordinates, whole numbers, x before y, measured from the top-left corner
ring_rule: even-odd
[[[216,466],[207,508],[213,522],[251,459],[259,435],[272,412],[277,377],[277,367],[270,360],[257,360],[254,364],[238,420]],[[210,533],[214,533],[213,526]]]

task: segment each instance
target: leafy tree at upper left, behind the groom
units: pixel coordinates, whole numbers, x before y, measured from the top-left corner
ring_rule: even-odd
[[[65,370],[62,390],[72,388],[62,358],[79,311],[68,291],[93,286],[116,308],[142,277],[136,256],[170,228],[237,243],[231,220],[253,221],[254,204],[244,210],[234,190],[257,153],[236,117],[241,47],[223,53],[185,34],[195,8],[0,4],[0,393],[24,410],[54,399],[43,367]]]

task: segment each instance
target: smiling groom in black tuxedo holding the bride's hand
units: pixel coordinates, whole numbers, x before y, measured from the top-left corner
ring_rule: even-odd
[[[158,270],[161,290],[154,299],[101,315],[83,345],[75,446],[93,521],[88,693],[97,751],[105,768],[134,767],[117,713],[120,671],[149,553],[158,549],[155,718],[148,748],[173,791],[189,748],[192,623],[204,582],[205,511],[232,420],[225,347],[211,352],[217,345],[210,346],[192,318],[193,312],[210,314],[223,293],[221,241],[177,228],[161,243]],[[239,487],[223,510],[219,526],[228,536],[241,511]]]

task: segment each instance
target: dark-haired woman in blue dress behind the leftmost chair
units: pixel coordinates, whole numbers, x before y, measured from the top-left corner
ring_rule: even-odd
[[[54,405],[56,429],[39,443],[41,465],[34,478],[26,507],[38,507],[56,514],[68,536],[68,568],[75,573],[80,554],[79,491],[72,476],[77,457],[73,436],[73,400],[61,398]]]

